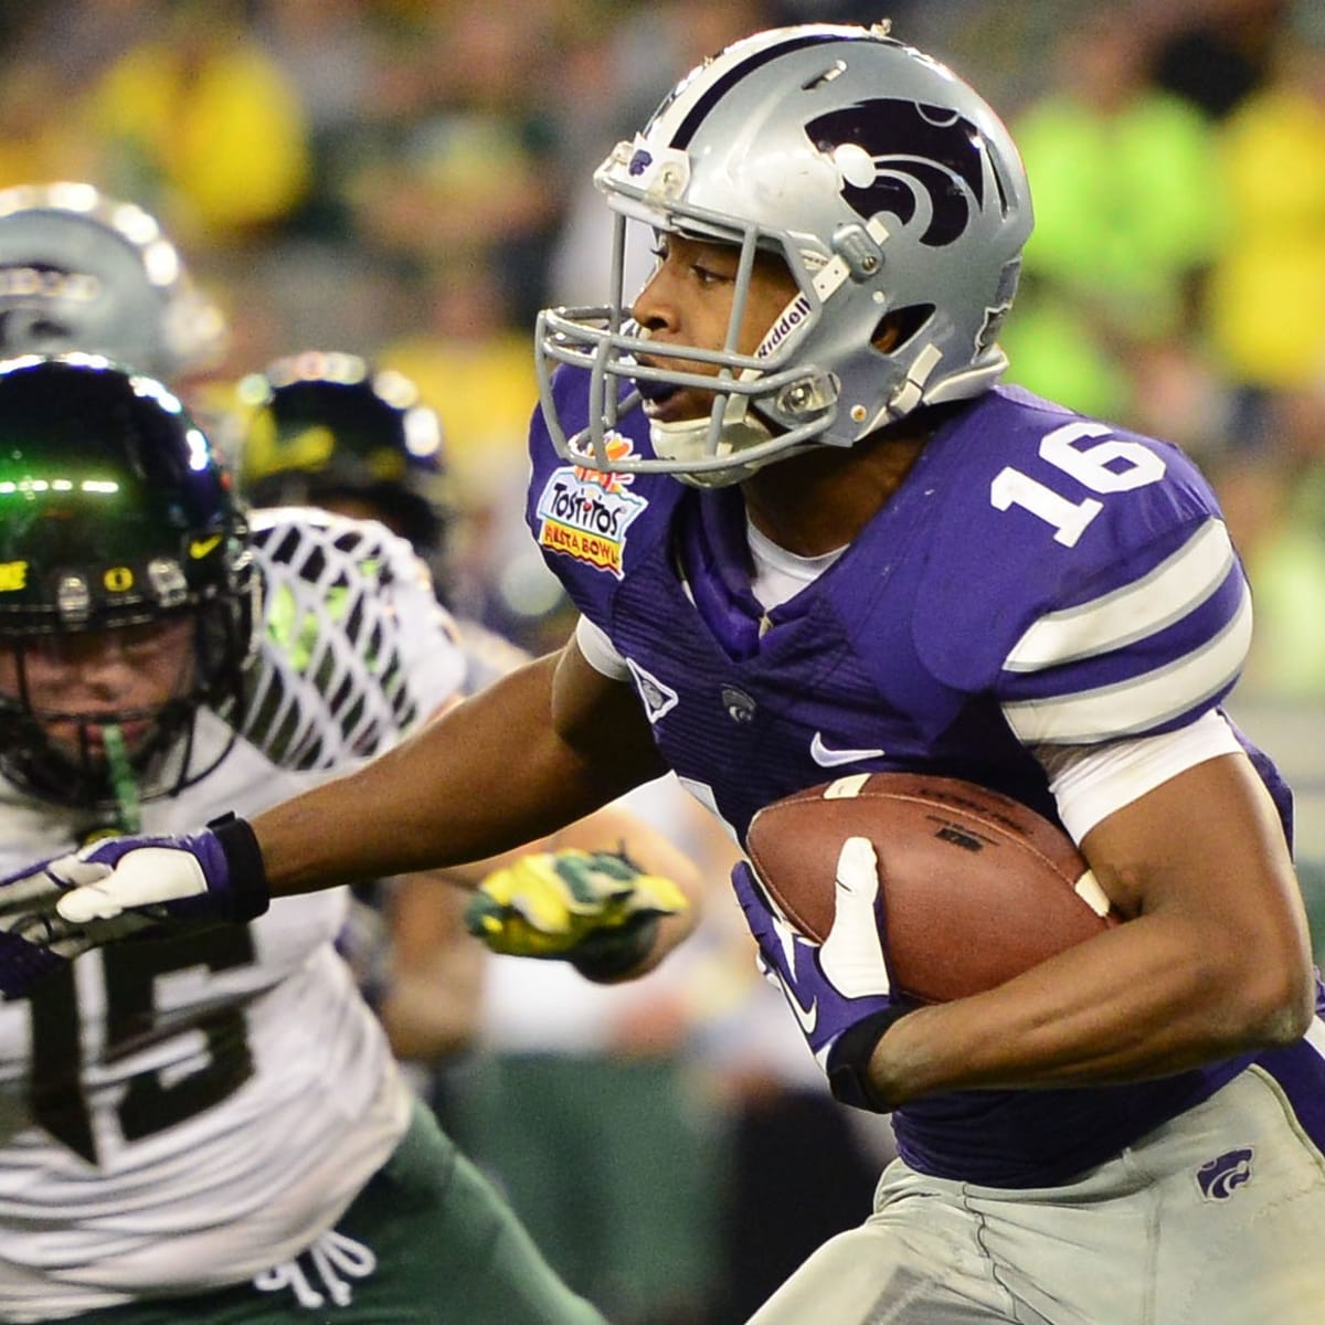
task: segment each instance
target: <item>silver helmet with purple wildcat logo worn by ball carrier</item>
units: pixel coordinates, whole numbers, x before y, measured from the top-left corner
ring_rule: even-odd
[[[576,464],[738,482],[810,445],[851,447],[918,405],[978,395],[1007,367],[996,335],[1031,232],[1020,155],[983,98],[886,24],[735,42],[677,83],[594,179],[617,213],[612,302],[545,310],[537,330],[543,413]],[[739,248],[722,348],[668,342],[670,366],[639,360],[660,347],[625,299],[636,221]],[[780,254],[799,293],[743,355],[757,250]],[[558,419],[556,363],[592,372],[587,427]],[[713,409],[655,424],[655,457],[636,457],[612,435],[641,387],[716,391]]]

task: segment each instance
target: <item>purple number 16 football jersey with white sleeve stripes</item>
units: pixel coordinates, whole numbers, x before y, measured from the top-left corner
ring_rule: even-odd
[[[560,370],[562,419],[587,375]],[[649,453],[621,420],[620,454]],[[527,518],[627,660],[657,746],[743,837],[762,806],[843,772],[924,768],[1056,818],[1030,747],[1181,727],[1236,682],[1249,594],[1215,498],[1174,447],[1016,388],[950,417],[814,583],[750,590],[738,489],[600,474],[535,415]],[[1289,798],[1248,747],[1288,828]],[[1106,1089],[962,1092],[893,1114],[916,1167],[1053,1183],[1207,1097],[1230,1061]]]

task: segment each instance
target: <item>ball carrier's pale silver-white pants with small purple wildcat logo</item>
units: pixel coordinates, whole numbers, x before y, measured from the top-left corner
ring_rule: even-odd
[[[1064,1186],[979,1187],[894,1161],[874,1214],[750,1325],[1259,1321],[1325,1322],[1325,1157],[1249,1068]]]

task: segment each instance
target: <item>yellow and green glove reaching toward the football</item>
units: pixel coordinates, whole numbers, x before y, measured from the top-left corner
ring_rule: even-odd
[[[537,852],[494,869],[465,908],[465,925],[492,951],[556,958],[610,980],[653,946],[659,920],[690,906],[681,889],[624,852]]]

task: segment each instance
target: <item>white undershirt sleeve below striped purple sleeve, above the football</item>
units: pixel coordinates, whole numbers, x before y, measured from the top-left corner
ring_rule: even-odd
[[[1179,772],[1242,746],[1223,714],[1211,710],[1177,731],[1104,745],[1034,747],[1049,775],[1059,818],[1073,841],[1116,810]]]

